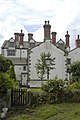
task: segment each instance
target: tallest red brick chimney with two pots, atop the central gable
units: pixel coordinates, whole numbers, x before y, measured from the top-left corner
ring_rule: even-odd
[[[44,41],[50,40],[50,33],[51,33],[51,25],[49,24],[49,21],[45,21],[44,28]]]

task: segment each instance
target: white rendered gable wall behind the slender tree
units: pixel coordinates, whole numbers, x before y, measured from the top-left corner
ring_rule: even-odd
[[[39,79],[37,76],[35,64],[37,59],[40,59],[40,54],[42,52],[51,53],[51,57],[55,58],[55,69],[50,71],[50,79],[54,77],[59,77],[65,79],[65,57],[64,52],[46,40],[45,43],[33,48],[30,55],[31,65],[30,65],[30,79]],[[47,78],[45,78],[47,79]]]

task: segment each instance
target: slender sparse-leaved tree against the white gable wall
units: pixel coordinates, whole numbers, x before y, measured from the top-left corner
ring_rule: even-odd
[[[48,66],[46,64],[46,60],[50,60],[50,65]],[[51,58],[51,54],[50,53],[41,53],[40,55],[40,59],[38,59],[35,67],[36,67],[36,71],[37,71],[37,75],[38,77],[41,79],[41,84],[43,84],[43,78],[44,78],[44,74],[47,72],[47,70],[51,70],[54,69],[53,65],[54,64],[54,60],[55,58]]]

